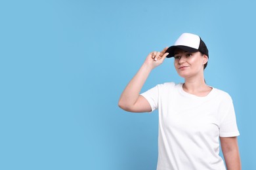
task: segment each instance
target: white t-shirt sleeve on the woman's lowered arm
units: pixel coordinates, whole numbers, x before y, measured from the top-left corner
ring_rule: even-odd
[[[219,126],[220,137],[236,137],[240,133],[236,124],[236,114],[231,97],[221,103],[220,107],[221,124]]]

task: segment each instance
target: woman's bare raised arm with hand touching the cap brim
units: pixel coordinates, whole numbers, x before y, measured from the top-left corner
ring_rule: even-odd
[[[150,112],[151,107],[148,101],[140,95],[140,90],[146,82],[148,75],[152,69],[163,63],[163,60],[166,58],[168,53],[165,53],[167,47],[164,48],[161,52],[151,52],[146,57],[146,60],[140,67],[137,74],[131,79],[129,84],[127,84],[121,97],[119,99],[119,107],[123,110],[129,112]]]

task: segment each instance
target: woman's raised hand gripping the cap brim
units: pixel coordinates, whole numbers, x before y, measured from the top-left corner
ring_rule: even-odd
[[[151,69],[158,67],[158,65],[163,63],[163,60],[169,54],[166,52],[167,49],[168,47],[165,47],[161,52],[150,52],[150,54],[148,54],[148,56],[146,57],[144,64],[148,65],[148,67],[150,67]]]

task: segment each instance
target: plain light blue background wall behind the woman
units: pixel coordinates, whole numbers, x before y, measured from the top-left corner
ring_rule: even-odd
[[[147,54],[183,32],[232,96],[243,169],[256,169],[253,1],[1,1],[0,169],[156,169],[158,112],[117,107]],[[143,91],[182,82],[173,59]]]

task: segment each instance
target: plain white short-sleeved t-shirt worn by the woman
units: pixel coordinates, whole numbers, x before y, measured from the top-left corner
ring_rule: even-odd
[[[141,94],[159,111],[158,170],[223,170],[219,137],[240,135],[232,99],[213,88],[205,97],[168,82]]]

